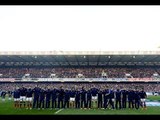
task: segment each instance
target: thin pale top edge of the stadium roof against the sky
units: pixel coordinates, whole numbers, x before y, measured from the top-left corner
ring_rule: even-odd
[[[0,55],[160,55],[160,51],[0,51]]]

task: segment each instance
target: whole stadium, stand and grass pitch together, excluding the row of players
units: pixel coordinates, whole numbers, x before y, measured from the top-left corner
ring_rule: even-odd
[[[159,114],[160,52],[155,51],[39,51],[0,53],[0,114]],[[139,89],[147,93],[147,110],[61,108],[44,110],[15,108],[8,91],[16,86],[34,88],[36,85],[53,89],[93,86],[103,89]],[[2,92],[6,92],[3,98]],[[128,103],[127,103],[128,104]],[[4,107],[4,108],[3,108]],[[51,108],[51,105],[50,105]]]

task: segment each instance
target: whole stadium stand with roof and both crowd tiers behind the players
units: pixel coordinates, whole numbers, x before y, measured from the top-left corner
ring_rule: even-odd
[[[50,82],[55,86],[62,82],[72,86],[77,82],[79,86],[84,82],[86,86],[95,84],[98,87],[142,86],[146,91],[158,92],[159,61],[158,51],[0,52],[0,88],[13,89],[15,84],[32,87],[35,83],[45,86]],[[73,83],[65,84],[66,81]],[[93,83],[96,81],[101,82]]]

